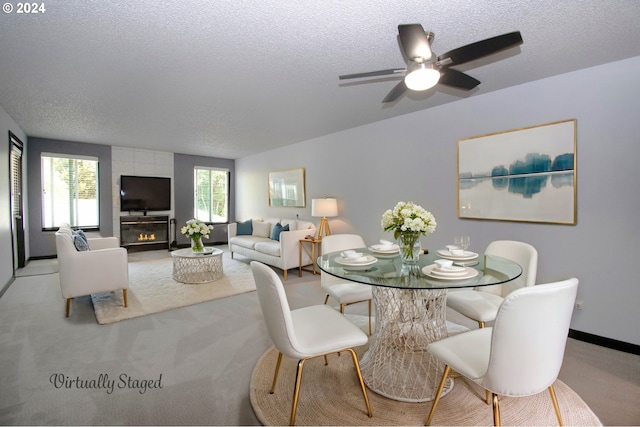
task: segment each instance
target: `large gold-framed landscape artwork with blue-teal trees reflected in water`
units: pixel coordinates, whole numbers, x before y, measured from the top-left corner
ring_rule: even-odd
[[[575,119],[458,141],[458,217],[576,223]]]

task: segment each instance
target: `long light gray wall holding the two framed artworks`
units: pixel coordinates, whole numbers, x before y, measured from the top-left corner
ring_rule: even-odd
[[[580,279],[584,308],[574,312],[573,329],[639,345],[639,76],[636,57],[239,159],[237,217],[311,219],[311,199],[333,196],[340,216],[330,220],[332,232],[360,233],[373,243],[392,238],[381,230],[382,213],[413,200],[438,222],[424,246],[441,248],[456,233],[469,234],[477,251],[496,239],[530,242],[539,251],[539,283]],[[577,225],[457,217],[457,140],[573,118]],[[269,208],[268,172],[298,167],[306,169],[307,207]]]

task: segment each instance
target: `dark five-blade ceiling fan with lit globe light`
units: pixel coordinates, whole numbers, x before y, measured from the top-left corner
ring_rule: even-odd
[[[404,73],[404,79],[391,89],[382,100],[383,103],[395,101],[407,89],[423,91],[432,88],[438,83],[458,89],[471,90],[478,86],[480,81],[450,67],[474,61],[522,44],[522,35],[519,31],[514,31],[480,40],[436,56],[431,50],[434,34],[425,32],[422,25],[398,25],[398,34],[400,36],[400,46],[407,59],[406,68],[390,68],[366,73],[346,74],[339,76],[340,80]]]

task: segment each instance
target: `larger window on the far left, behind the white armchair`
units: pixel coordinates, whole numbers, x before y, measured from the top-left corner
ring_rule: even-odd
[[[42,154],[42,228],[98,228],[98,160]]]

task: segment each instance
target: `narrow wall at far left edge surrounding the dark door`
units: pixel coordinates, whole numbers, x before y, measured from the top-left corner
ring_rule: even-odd
[[[9,170],[9,131],[13,132],[24,144],[25,152],[23,153],[23,175],[26,176],[26,143],[27,136],[22,129],[18,127],[16,122],[4,111],[0,106],[0,290],[11,281],[13,277],[13,254],[12,254],[12,236],[11,222],[13,216],[11,213],[11,191],[10,191],[10,170]],[[26,182],[26,180],[24,180]],[[23,184],[24,184],[23,182]],[[26,191],[23,191],[26,194]],[[27,212],[26,197],[24,197],[25,215]],[[26,219],[25,219],[26,221]],[[26,222],[25,222],[26,224]],[[27,233],[27,230],[25,230]],[[25,235],[28,240],[28,234]],[[26,248],[27,257],[29,256],[28,248]]]

